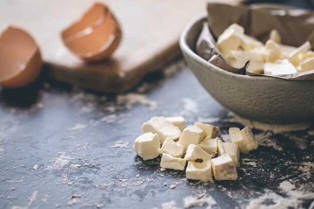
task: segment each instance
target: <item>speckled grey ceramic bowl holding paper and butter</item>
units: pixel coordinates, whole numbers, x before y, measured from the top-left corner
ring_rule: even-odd
[[[238,75],[194,52],[205,15],[192,20],[180,38],[182,53],[203,87],[236,114],[266,123],[295,123],[314,117],[314,81]]]

